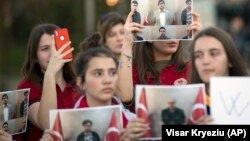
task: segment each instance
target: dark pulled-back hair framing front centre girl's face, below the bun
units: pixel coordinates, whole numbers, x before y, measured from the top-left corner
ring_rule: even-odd
[[[78,53],[74,64],[76,76],[81,77],[82,82],[85,81],[85,75],[88,69],[88,64],[90,60],[94,57],[112,58],[116,64],[116,68],[118,67],[118,61],[115,55],[108,48],[105,47],[89,48],[84,52]]]

